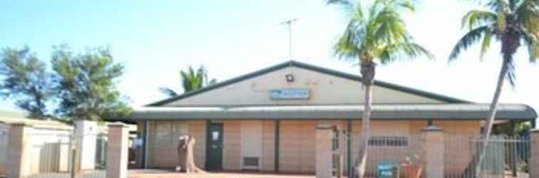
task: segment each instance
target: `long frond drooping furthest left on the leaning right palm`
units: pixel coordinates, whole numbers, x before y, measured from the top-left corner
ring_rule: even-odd
[[[458,42],[456,43],[455,47],[453,47],[453,50],[451,51],[451,54],[449,55],[449,61],[453,61],[458,57],[458,55],[461,54],[461,51],[467,49],[470,47],[473,43],[476,43],[481,39],[484,33],[487,31],[490,31],[488,26],[481,26],[478,28],[475,28],[471,31],[468,31],[466,35],[464,35]]]

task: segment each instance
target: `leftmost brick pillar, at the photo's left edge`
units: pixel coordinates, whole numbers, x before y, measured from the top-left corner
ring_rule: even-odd
[[[24,123],[14,123],[9,127],[6,167],[8,178],[21,178],[30,174],[29,135],[30,127]]]

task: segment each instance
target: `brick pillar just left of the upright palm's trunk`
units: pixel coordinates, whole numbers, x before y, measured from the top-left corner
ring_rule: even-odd
[[[316,133],[316,175],[317,178],[332,177],[332,127],[318,125]]]

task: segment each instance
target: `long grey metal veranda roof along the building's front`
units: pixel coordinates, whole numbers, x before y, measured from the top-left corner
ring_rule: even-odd
[[[483,120],[488,104],[375,104],[371,117],[385,120],[450,119]],[[193,119],[360,119],[363,105],[258,105],[214,107],[136,108],[132,120]],[[500,104],[497,119],[533,120],[535,110],[527,105]]]

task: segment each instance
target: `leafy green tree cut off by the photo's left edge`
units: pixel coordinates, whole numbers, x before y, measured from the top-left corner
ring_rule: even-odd
[[[27,46],[3,49],[0,75],[0,95],[14,98],[17,107],[29,113],[28,117],[50,117],[46,103],[52,93],[46,65]]]

